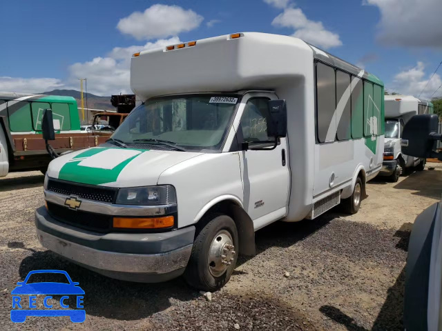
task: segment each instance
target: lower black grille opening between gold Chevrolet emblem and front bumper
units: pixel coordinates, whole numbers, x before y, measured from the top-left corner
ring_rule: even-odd
[[[110,215],[70,210],[67,207],[50,202],[48,202],[48,211],[57,221],[73,225],[77,228],[95,232],[108,232],[111,230],[113,218]]]

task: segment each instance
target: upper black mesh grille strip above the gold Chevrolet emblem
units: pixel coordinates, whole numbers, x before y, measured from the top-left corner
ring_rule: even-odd
[[[115,201],[118,192],[117,188],[103,188],[100,186],[57,181],[55,179],[49,179],[48,190],[59,194],[73,195],[83,199],[108,203]]]

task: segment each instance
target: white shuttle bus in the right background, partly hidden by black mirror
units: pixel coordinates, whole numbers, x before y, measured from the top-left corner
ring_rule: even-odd
[[[416,114],[432,114],[433,104],[411,95],[385,95],[385,146],[380,176],[398,181],[401,174],[425,168],[425,159],[410,157],[401,151],[402,131]]]

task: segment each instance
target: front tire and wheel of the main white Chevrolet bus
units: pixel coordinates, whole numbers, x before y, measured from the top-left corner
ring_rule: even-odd
[[[212,214],[209,223],[198,233],[184,279],[198,290],[222,288],[235,269],[238,258],[238,230],[231,217]]]

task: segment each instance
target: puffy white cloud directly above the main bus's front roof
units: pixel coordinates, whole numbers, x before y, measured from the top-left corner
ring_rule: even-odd
[[[156,4],[120,19],[117,29],[138,40],[164,38],[198,28],[203,19],[190,9]]]

